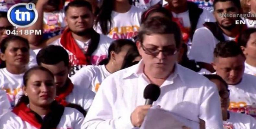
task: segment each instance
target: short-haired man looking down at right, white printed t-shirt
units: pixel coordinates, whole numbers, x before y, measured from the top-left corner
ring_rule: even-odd
[[[228,84],[229,111],[256,116],[256,77],[244,73],[245,56],[235,41],[220,42],[214,50],[213,67]]]

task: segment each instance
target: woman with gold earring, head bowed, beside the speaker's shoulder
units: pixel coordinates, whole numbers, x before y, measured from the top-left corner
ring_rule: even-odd
[[[71,77],[71,81],[75,85],[83,85],[96,93],[107,76],[122,68],[124,57],[129,49],[137,49],[133,41],[128,39],[113,41],[109,47],[107,59],[102,60],[100,65],[88,65],[81,68]]]

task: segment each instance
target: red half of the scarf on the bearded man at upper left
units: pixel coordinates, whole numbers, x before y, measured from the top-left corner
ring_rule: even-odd
[[[61,45],[73,53],[76,56],[76,59],[78,62],[76,62],[76,65],[87,65],[89,64],[90,57],[85,56],[85,54],[82,52],[82,50],[79,48],[79,46],[76,44],[75,39],[72,37],[72,33],[70,29],[65,29],[64,32],[62,33],[61,40],[60,40]],[[72,62],[73,64],[73,62]]]

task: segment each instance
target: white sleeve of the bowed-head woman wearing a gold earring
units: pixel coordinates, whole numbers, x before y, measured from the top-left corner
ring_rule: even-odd
[[[78,70],[75,75],[73,75],[70,80],[74,85],[82,86],[83,88],[92,90],[92,79],[95,76],[92,66],[85,66]]]

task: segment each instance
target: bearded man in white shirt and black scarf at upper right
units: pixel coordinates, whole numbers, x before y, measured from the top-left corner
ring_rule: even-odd
[[[199,28],[193,35],[189,58],[198,62],[212,63],[213,51],[220,41],[234,40],[245,25],[236,25],[239,17],[225,17],[223,14],[238,14],[239,5],[233,0],[215,0],[214,16],[216,22],[206,22],[205,27]]]

